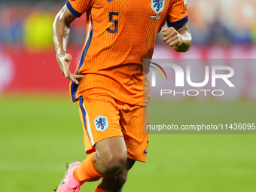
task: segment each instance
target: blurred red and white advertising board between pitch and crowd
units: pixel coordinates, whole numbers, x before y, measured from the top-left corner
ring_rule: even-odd
[[[69,47],[68,52],[73,56],[71,72],[74,72],[80,59],[81,47]],[[248,65],[241,62],[243,60],[253,61],[256,58],[256,51],[253,46],[243,47],[234,45],[228,48],[224,46],[201,47],[194,45],[187,53],[176,53],[168,46],[157,44],[153,58],[184,59],[186,61],[189,59],[200,59],[200,65],[191,65],[191,72],[192,70],[204,72],[206,66],[211,67],[211,63],[203,62],[207,59],[212,59],[212,61],[215,59],[221,59],[221,61],[232,59],[232,62],[229,62],[228,65],[235,71],[233,78],[236,82],[239,82],[239,84],[236,84],[236,92],[240,93],[236,93],[235,97],[230,93],[228,97],[234,99],[244,97],[256,99],[256,93],[253,91],[256,90],[254,75],[256,73],[256,63]],[[31,50],[26,49],[5,48],[0,50],[0,59],[0,91],[4,93],[15,91],[43,93],[47,91],[52,93],[66,92],[68,94],[69,80],[62,76],[53,49],[33,53]],[[182,67],[184,63],[178,63],[178,65]],[[195,82],[197,82],[197,79],[198,82],[203,81],[203,73],[201,75],[202,79],[196,73],[193,75],[191,80]],[[175,81],[175,75],[171,76],[173,81]],[[148,78],[151,78],[151,74],[148,75]],[[158,78],[160,76],[157,76],[157,82],[160,82]],[[161,86],[164,86],[164,82],[163,84],[161,83]]]

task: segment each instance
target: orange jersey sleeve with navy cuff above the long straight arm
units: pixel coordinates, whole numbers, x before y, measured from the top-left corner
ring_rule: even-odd
[[[75,17],[81,17],[93,6],[93,0],[67,0],[66,6]]]

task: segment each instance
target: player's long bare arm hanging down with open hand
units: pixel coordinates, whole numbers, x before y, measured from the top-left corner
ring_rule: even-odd
[[[79,84],[79,80],[84,75],[74,75],[69,71],[72,62],[72,56],[66,53],[66,47],[69,42],[69,34],[71,23],[75,20],[75,16],[64,5],[61,11],[56,15],[53,23],[53,43],[56,50],[56,59],[59,62],[59,68],[65,78],[70,79],[75,84]]]

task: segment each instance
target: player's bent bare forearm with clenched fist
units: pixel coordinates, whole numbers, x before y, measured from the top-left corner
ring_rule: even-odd
[[[190,49],[193,40],[187,23],[178,28],[163,26],[162,32],[163,41],[173,47],[175,51],[186,52]]]

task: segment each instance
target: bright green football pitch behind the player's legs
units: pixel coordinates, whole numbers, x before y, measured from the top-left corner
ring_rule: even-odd
[[[161,120],[161,108],[170,108],[175,120],[207,119],[210,110],[215,114],[212,123],[223,117],[229,123],[256,123],[256,104],[249,101],[152,102],[151,123]],[[192,108],[200,109],[197,115]],[[68,97],[2,97],[0,130],[1,192],[53,191],[66,162],[86,157],[78,105]],[[255,139],[255,135],[151,135],[147,163],[135,164],[123,191],[253,192]],[[98,183],[86,183],[81,191],[93,192]]]

